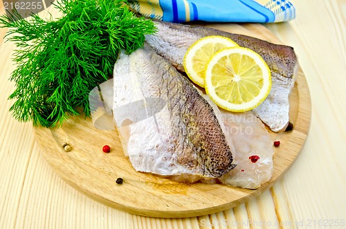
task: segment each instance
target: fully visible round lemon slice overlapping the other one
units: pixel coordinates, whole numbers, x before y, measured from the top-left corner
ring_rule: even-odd
[[[206,66],[206,92],[221,108],[249,111],[271,91],[271,71],[264,59],[248,48],[224,48]]]

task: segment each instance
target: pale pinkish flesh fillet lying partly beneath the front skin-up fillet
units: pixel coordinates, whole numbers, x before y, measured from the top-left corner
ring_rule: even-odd
[[[232,143],[233,163],[237,165],[218,180],[248,189],[256,189],[269,181],[273,174],[273,140],[261,120],[253,111],[233,113],[219,109],[208,95],[203,97],[214,109],[226,139]],[[253,156],[258,157],[257,161],[251,161]]]

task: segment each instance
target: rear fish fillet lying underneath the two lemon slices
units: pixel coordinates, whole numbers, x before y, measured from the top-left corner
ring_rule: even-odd
[[[188,48],[198,39],[209,35],[229,37],[239,46],[259,53],[271,69],[272,89],[266,100],[253,111],[272,131],[286,129],[289,124],[289,93],[298,70],[298,61],[293,48],[212,28],[163,21],[155,23],[158,30],[154,35],[147,35],[146,42],[159,55],[169,59],[179,71],[184,71],[183,57]]]

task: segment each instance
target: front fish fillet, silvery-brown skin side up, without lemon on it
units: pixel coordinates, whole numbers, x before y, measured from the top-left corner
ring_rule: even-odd
[[[137,171],[161,176],[193,174],[215,178],[235,167],[210,104],[149,45],[131,55],[120,53],[114,66],[113,90],[113,116],[120,134],[122,125],[140,108],[120,112],[118,107],[138,104],[136,101],[145,98],[166,101],[165,107],[154,116],[126,127],[130,132],[127,154]]]

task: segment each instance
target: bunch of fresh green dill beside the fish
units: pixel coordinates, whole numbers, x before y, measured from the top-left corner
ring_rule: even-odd
[[[16,11],[0,17],[0,27],[14,28],[6,37],[17,45],[10,111],[44,127],[60,127],[78,107],[90,116],[89,92],[108,80],[119,51],[135,51],[156,30],[126,1],[60,0],[55,7],[62,12],[55,20]]]

